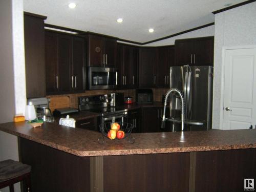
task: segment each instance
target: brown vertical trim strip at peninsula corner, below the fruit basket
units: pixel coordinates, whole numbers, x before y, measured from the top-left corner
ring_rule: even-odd
[[[103,192],[103,156],[90,157],[91,192]]]

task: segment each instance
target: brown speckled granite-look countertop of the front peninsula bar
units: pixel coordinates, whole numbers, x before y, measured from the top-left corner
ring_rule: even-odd
[[[184,132],[186,142],[180,142],[181,132],[135,133],[134,143],[127,139],[110,140],[99,144],[101,133],[72,128],[55,123],[33,128],[27,122],[0,124],[4,131],[76,156],[108,156],[132,154],[180,153],[198,151],[256,148],[256,130]]]

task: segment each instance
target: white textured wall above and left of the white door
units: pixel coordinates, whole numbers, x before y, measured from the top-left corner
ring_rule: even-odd
[[[256,45],[256,2],[215,15],[214,97],[212,128],[221,125],[222,48]]]

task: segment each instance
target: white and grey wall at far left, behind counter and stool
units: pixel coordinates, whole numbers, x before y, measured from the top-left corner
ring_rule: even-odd
[[[24,114],[26,104],[23,0],[0,1],[0,23],[0,123],[4,123]],[[0,161],[5,159],[18,160],[17,137],[0,131]],[[19,183],[14,188],[20,191]]]

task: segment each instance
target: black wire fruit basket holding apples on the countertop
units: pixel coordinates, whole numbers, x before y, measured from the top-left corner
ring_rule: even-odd
[[[99,125],[102,137],[98,139],[100,144],[104,143],[104,138],[114,141],[127,138],[129,143],[134,143],[135,138],[131,137],[134,125],[125,122],[106,122]]]

